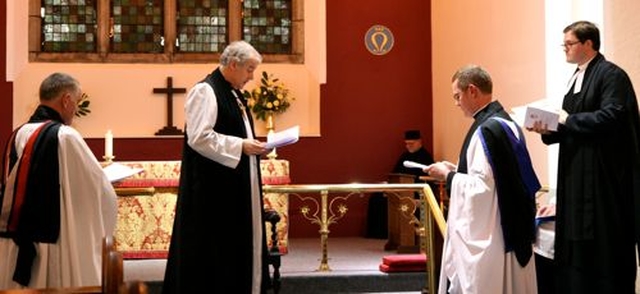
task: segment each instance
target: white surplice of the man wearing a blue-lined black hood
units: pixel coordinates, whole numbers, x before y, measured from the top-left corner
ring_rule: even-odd
[[[466,157],[467,174],[451,183],[438,293],[537,294],[533,256],[523,268],[514,252],[505,253],[493,171],[478,132]]]

